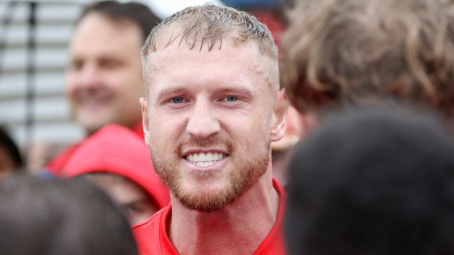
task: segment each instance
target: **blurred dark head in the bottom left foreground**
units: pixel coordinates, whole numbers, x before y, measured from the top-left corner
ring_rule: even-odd
[[[0,225],[0,254],[138,254],[126,217],[87,180],[6,178]]]

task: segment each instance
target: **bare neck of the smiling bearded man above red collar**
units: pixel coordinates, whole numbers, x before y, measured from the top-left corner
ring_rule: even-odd
[[[170,240],[180,254],[253,254],[274,226],[278,210],[269,166],[256,184],[221,210],[189,210],[172,196]]]

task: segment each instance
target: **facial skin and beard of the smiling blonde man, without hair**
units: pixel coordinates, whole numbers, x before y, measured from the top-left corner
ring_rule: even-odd
[[[250,40],[222,45],[158,47],[144,69],[152,73],[140,103],[154,167],[193,210],[220,210],[241,196],[270,169],[270,142],[284,134],[277,57]],[[198,153],[224,158],[198,166],[190,159]]]

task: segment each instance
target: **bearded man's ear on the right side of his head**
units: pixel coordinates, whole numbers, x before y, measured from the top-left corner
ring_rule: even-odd
[[[287,125],[288,100],[284,88],[279,90],[274,101],[271,141],[279,141],[284,137]]]

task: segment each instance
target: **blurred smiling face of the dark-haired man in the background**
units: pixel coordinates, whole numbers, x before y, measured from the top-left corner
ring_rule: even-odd
[[[75,27],[66,93],[75,120],[89,134],[108,123],[140,123],[142,32],[127,20],[89,13]]]

